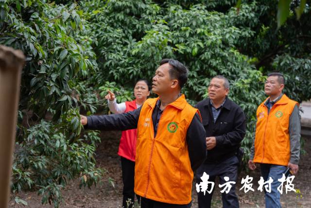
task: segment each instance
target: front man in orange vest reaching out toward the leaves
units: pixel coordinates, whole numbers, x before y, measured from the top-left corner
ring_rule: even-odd
[[[159,95],[121,114],[81,116],[91,130],[137,129],[136,194],[141,208],[190,208],[193,171],[206,158],[205,130],[197,109],[180,94],[188,69],[163,59],[152,90]]]

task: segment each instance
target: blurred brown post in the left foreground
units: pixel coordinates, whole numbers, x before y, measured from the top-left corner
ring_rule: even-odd
[[[0,208],[7,208],[23,52],[0,45]]]

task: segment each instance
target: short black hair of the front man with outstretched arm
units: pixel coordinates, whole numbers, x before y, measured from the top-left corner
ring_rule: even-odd
[[[178,84],[181,89],[187,82],[189,70],[184,64],[172,58],[162,59],[160,62],[160,66],[165,63],[170,64],[170,70],[169,70],[170,76],[171,78],[178,79]]]

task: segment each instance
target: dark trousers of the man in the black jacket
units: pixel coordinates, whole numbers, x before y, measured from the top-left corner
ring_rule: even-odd
[[[229,177],[229,181],[237,182],[238,165],[239,165],[239,160],[237,156],[232,156],[219,164],[203,163],[196,170],[196,174],[195,174],[196,183],[200,184],[200,182],[202,181],[201,177],[204,172],[206,172],[209,175],[208,181],[215,182],[216,176],[219,176],[220,184],[224,184],[226,183],[224,177],[227,176]],[[239,208],[239,200],[238,200],[237,194],[235,193],[235,185],[236,184],[232,185],[228,193],[225,193],[225,192],[222,193],[222,201],[223,201],[224,208]],[[216,186],[218,186],[218,184],[215,184],[214,189],[216,188]],[[209,189],[210,187],[207,188],[207,190]],[[210,208],[214,189],[210,194],[206,192],[204,195],[204,193],[201,191],[198,193],[199,208]],[[224,187],[221,189],[224,189]]]

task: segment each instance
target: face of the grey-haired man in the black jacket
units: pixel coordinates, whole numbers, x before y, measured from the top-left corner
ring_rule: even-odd
[[[225,89],[225,80],[212,78],[208,86],[208,96],[211,100],[222,100],[228,95],[229,89]]]

